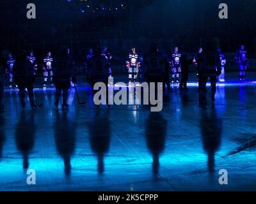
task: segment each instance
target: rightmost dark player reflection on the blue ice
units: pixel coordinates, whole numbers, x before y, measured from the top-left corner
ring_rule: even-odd
[[[207,166],[209,173],[214,173],[214,156],[220,147],[223,121],[218,117],[214,105],[210,112],[205,108],[202,109],[200,117],[202,142],[208,155]]]

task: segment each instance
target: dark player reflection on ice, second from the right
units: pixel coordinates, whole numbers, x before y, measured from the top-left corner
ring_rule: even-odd
[[[158,173],[159,154],[163,152],[165,145],[167,120],[160,112],[150,112],[145,127],[147,147],[153,155],[152,171]]]

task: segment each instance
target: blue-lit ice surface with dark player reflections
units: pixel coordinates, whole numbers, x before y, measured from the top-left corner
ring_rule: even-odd
[[[173,87],[164,94],[161,113],[136,105],[98,110],[84,83],[78,90],[85,106],[70,89],[70,109],[56,111],[54,90],[36,89],[44,106],[31,111],[27,103],[22,111],[18,92],[6,90],[0,190],[256,190],[256,84],[228,77],[214,106],[198,106],[191,80],[188,92]],[[36,171],[36,185],[26,183],[27,169]],[[221,169],[226,186],[218,183]]]

